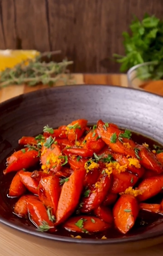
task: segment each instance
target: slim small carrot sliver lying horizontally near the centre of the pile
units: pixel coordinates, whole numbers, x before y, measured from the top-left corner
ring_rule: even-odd
[[[91,149],[87,149],[87,148],[65,148],[63,149],[63,153],[66,155],[69,154],[74,154],[77,156],[82,156],[82,157],[91,157],[94,154],[94,151]]]

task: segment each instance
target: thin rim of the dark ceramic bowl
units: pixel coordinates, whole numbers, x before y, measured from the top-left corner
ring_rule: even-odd
[[[109,87],[110,89],[115,89],[115,90],[129,90],[129,91],[137,91],[136,93],[144,93],[144,94],[149,94],[150,97],[155,97],[158,98],[160,100],[162,100],[163,102],[163,97],[155,94],[155,93],[151,93],[148,91],[142,91],[139,89],[135,89],[135,88],[130,88],[130,87],[121,87],[121,86],[113,86],[113,85],[109,85],[109,84],[74,84],[74,85],[67,85],[67,86],[56,86],[53,88],[44,88],[44,89],[39,89],[36,91],[32,91],[32,92],[27,92],[27,93],[22,93],[19,94],[16,97],[7,99],[3,102],[0,103],[0,110],[1,108],[4,108],[5,105],[7,105],[8,103],[11,103],[14,101],[16,101],[19,98],[29,98],[31,94],[36,94],[36,93],[44,93],[45,91],[51,91],[51,90],[65,90],[65,89],[69,89],[69,88],[84,88],[85,86],[89,86],[89,87],[100,87],[100,88],[106,88]],[[39,238],[44,238],[44,239],[48,239],[48,240],[54,240],[57,242],[65,242],[65,243],[77,243],[77,244],[90,244],[90,245],[111,245],[111,244],[125,244],[125,243],[130,243],[130,242],[138,242],[138,241],[145,241],[148,239],[154,239],[154,238],[158,238],[160,236],[163,235],[163,230],[161,231],[154,231],[154,232],[147,232],[147,233],[140,233],[140,234],[136,234],[136,235],[132,235],[132,236],[124,236],[121,238],[109,238],[109,239],[86,239],[86,238],[82,238],[82,239],[76,239],[76,238],[72,238],[72,237],[67,237],[67,236],[61,236],[61,235],[55,235],[55,234],[49,234],[49,233],[42,233],[42,232],[38,232],[37,230],[29,230],[26,227],[22,227],[22,226],[18,226],[16,224],[10,223],[8,220],[4,219],[4,217],[0,216],[0,223],[7,225],[8,227],[11,227],[14,230],[17,231],[21,231],[25,234],[30,234],[30,235],[34,235],[37,236]],[[159,224],[158,224],[159,225]]]

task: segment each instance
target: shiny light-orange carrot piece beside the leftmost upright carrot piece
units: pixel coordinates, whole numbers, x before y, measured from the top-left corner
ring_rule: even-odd
[[[24,170],[21,170],[19,172],[19,176],[21,178],[21,181],[25,185],[25,187],[28,189],[28,191],[37,195],[38,194],[39,181],[36,178],[32,178],[31,175],[32,175],[32,173],[24,172]]]

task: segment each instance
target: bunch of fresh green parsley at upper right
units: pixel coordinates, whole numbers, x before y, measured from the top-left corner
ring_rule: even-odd
[[[114,54],[116,61],[121,63],[120,71],[152,61],[155,64],[138,69],[139,78],[163,78],[163,20],[145,14],[142,21],[134,17],[129,27],[131,33],[123,33],[126,55]]]

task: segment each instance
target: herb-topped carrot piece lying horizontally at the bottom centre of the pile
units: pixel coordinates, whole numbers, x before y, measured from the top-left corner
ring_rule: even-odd
[[[101,221],[97,217],[94,216],[76,216],[72,217],[64,223],[64,227],[66,230],[73,232],[102,232],[107,230],[110,225]]]

